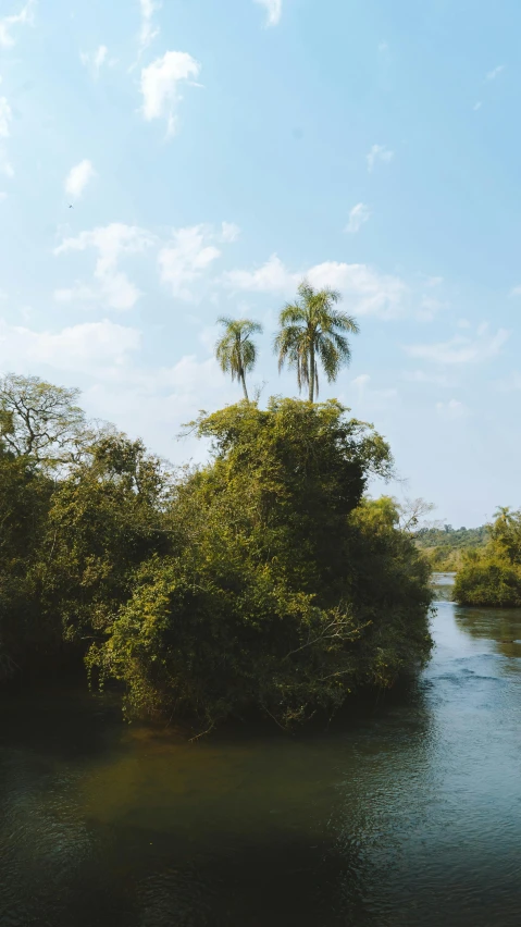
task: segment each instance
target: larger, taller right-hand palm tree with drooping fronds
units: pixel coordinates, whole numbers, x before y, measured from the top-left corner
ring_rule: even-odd
[[[358,334],[359,327],[352,316],[335,309],[340,298],[336,289],[313,289],[303,280],[296,301],[288,302],[278,318],[281,330],[274,343],[278,371],[286,361],[296,368],[298,388],[309,387],[310,403],[315,394],[319,395],[318,361],[322,362],[327,382],[332,383],[340,367],[351,359],[344,333]]]

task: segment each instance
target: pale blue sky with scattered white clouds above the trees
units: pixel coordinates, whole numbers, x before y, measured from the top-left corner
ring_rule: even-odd
[[[221,316],[307,276],[353,314],[336,397],[455,527],[521,505],[516,0],[0,0],[0,372],[78,386],[173,462],[240,399]],[[379,491],[382,487],[379,489]]]

